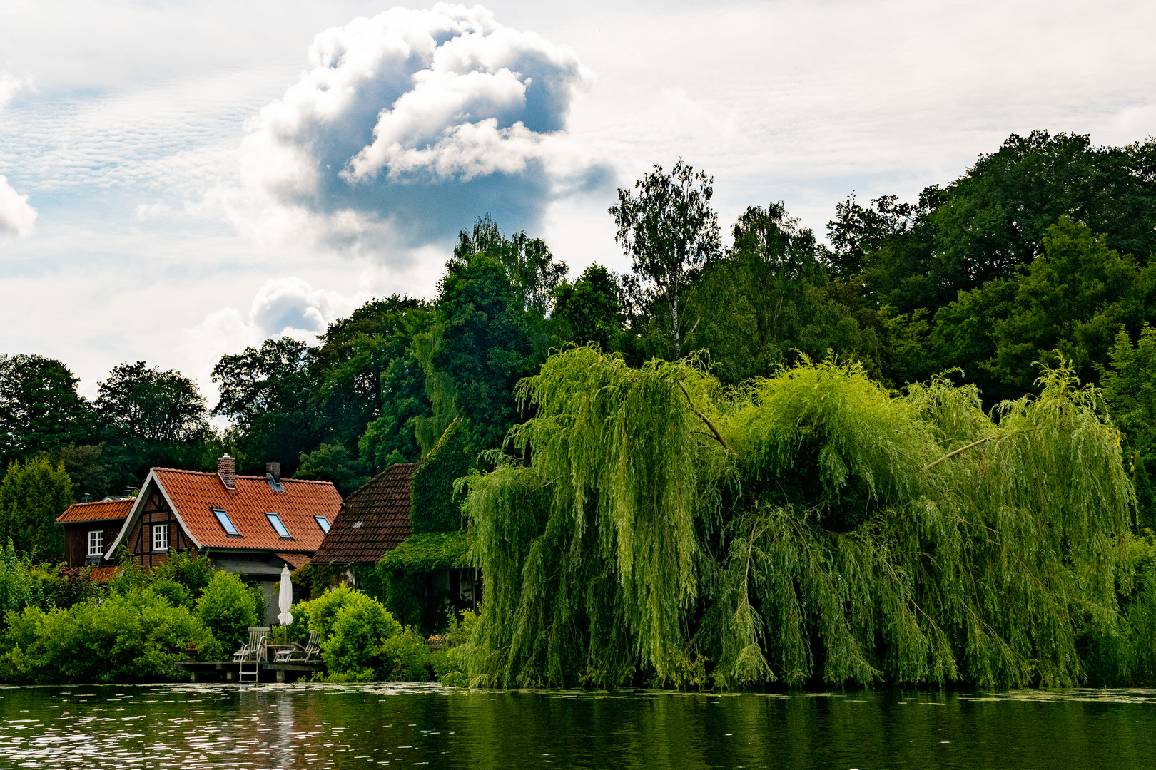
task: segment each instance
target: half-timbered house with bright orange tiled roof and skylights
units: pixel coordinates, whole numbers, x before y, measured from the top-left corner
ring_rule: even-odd
[[[282,479],[277,463],[266,470],[237,476],[229,455],[217,461],[216,473],[151,469],[116,537],[105,540],[104,562],[114,563],[121,546],[146,569],[164,563],[170,548],[205,553],[218,569],[261,585],[266,622],[273,622],[281,568],[309,561],[341,495],[328,481]]]

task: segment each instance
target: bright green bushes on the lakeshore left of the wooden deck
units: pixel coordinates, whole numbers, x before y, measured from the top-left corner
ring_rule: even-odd
[[[151,589],[113,593],[68,610],[8,613],[0,636],[0,678],[25,683],[142,681],[173,678],[190,643],[214,659],[221,644],[186,607]]]

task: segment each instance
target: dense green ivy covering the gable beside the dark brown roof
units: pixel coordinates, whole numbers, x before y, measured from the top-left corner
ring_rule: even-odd
[[[461,510],[454,481],[469,472],[470,435],[458,418],[450,424],[425,462],[414,472],[410,486],[410,531],[453,532],[461,529]]]

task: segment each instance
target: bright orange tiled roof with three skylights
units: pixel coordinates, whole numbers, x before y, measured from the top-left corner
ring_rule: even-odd
[[[206,548],[312,552],[325,537],[313,517],[332,523],[341,508],[341,495],[328,481],[281,479],[284,492],[274,492],[264,476],[238,476],[237,488],[227,489],[216,473],[168,468],[154,468],[153,473],[188,533]],[[224,508],[240,537],[225,533],[213,508]],[[280,516],[291,540],[277,536],[266,513]]]

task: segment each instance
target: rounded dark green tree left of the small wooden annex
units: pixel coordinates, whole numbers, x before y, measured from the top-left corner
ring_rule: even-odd
[[[10,540],[21,553],[58,559],[64,532],[57,516],[74,501],[64,463],[53,465],[44,457],[13,461],[0,483],[0,541]]]

